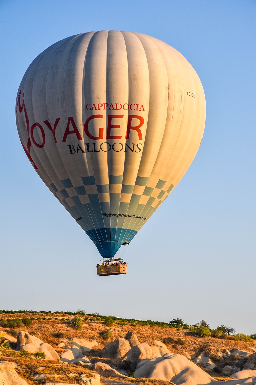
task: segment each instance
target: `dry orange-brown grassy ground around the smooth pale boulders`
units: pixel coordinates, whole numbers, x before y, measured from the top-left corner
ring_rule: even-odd
[[[136,335],[140,342],[153,344],[154,340],[162,341],[163,338],[172,337],[175,340],[181,338],[185,340],[185,345],[179,344],[166,344],[168,349],[172,353],[178,353],[182,355],[193,355],[199,354],[202,350],[208,352],[209,356],[215,360],[214,362],[218,363],[218,352],[223,353],[225,350],[231,350],[233,348],[239,348],[241,350],[245,350],[248,352],[252,352],[251,348],[256,349],[256,340],[252,342],[243,342],[243,341],[232,341],[232,340],[221,340],[218,338],[199,338],[194,337],[189,334],[186,330],[176,330],[175,328],[169,327],[159,327],[159,326],[131,326],[128,323],[124,325],[118,325],[114,323],[111,326],[111,337],[109,340],[103,340],[100,333],[104,330],[107,330],[109,326],[106,326],[102,320],[97,319],[96,316],[81,316],[83,318],[83,328],[81,330],[75,330],[71,327],[70,321],[73,316],[68,315],[45,315],[42,313],[39,314],[2,314],[1,318],[22,318],[25,316],[33,316],[33,317],[54,317],[58,318],[58,320],[33,320],[31,326],[23,326],[19,330],[28,331],[29,333],[34,334],[38,338],[40,338],[43,342],[47,342],[53,346],[53,348],[61,354],[65,351],[63,348],[58,348],[57,344],[60,343],[60,337],[56,336],[56,333],[63,333],[63,338],[83,338],[86,340],[96,340],[98,346],[95,347],[95,350],[91,353],[88,353],[90,356],[91,362],[98,362],[99,359],[101,362],[108,363],[113,368],[119,368],[119,360],[111,360],[106,359],[103,360],[100,356],[100,351],[102,348],[109,342],[116,340],[117,338],[124,338],[128,331],[135,331]],[[69,320],[61,321],[63,318],[68,318]],[[88,318],[87,320],[85,320]],[[15,334],[13,330],[8,328],[2,328],[1,330]],[[19,331],[17,330],[17,331]],[[1,349],[0,350],[0,362],[7,360],[16,362],[17,372],[23,377],[28,383],[31,385],[37,384],[38,381],[33,379],[34,373],[49,373],[49,378],[47,378],[47,382],[68,382],[68,383],[80,383],[78,379],[81,373],[86,373],[90,376],[91,372],[86,370],[85,368],[78,367],[76,365],[66,364],[63,362],[51,362],[40,359],[32,358],[33,355],[30,355],[30,358],[24,358],[20,356],[19,352],[15,352],[12,349]],[[207,370],[207,372],[212,375],[214,378],[222,381],[227,381],[229,377],[218,375],[217,373],[211,372]],[[53,374],[54,373],[54,374]],[[140,384],[152,384],[152,385],[166,385],[170,382],[165,381],[156,381],[156,380],[148,380],[148,379],[135,379],[128,377],[126,381],[123,379],[114,379],[114,378],[103,378],[101,377],[102,384],[108,385],[118,385],[123,383],[140,383]]]

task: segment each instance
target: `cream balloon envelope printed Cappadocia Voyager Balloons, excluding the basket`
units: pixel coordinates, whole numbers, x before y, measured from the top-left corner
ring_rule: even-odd
[[[23,149],[103,258],[128,244],[183,177],[205,124],[203,87],[173,47],[141,33],[81,33],[28,67]]]

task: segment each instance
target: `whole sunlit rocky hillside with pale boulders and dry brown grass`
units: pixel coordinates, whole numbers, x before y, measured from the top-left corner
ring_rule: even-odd
[[[256,340],[200,338],[98,315],[1,317],[0,385],[256,384]]]

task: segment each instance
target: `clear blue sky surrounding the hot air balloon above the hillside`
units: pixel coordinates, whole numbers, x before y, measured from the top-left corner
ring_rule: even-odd
[[[255,1],[1,0],[0,15],[0,308],[205,319],[256,333]],[[128,274],[105,278],[96,276],[95,246],[30,165],[15,122],[32,60],[93,30],[170,44],[206,96],[193,164],[127,247]]]

